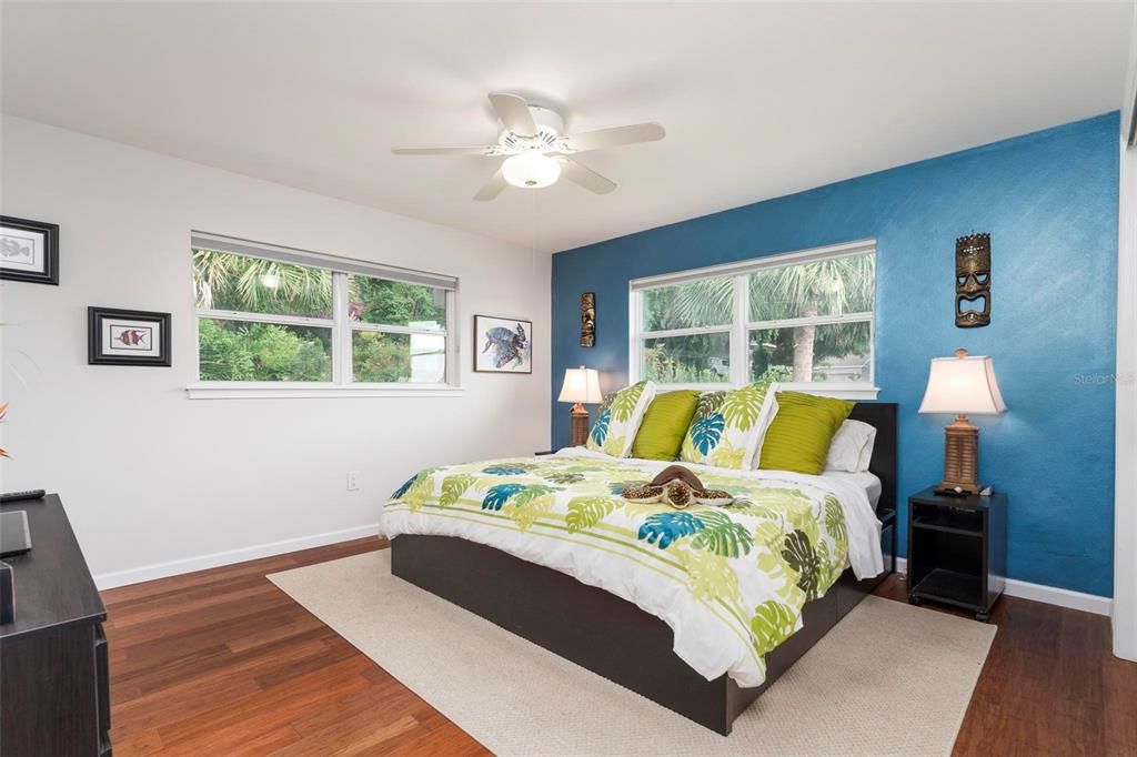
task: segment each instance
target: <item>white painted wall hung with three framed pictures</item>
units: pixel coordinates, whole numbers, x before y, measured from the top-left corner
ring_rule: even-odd
[[[100,585],[374,533],[417,468],[548,446],[546,255],[11,117],[0,208],[59,224],[61,272],[0,289],[0,486],[58,491]],[[458,276],[464,394],[186,399],[191,228]],[[173,367],[89,366],[90,305],[171,311]],[[532,318],[532,375],[471,371],[474,313]]]

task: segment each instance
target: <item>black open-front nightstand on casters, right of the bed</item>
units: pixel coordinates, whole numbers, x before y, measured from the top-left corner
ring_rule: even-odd
[[[987,622],[1006,583],[1006,494],[908,497],[908,601],[971,610]]]

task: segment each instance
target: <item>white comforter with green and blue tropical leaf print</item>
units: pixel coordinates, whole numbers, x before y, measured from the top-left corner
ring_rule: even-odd
[[[740,499],[675,510],[620,497],[665,465],[574,448],[426,468],[392,494],[381,529],[460,536],[611,591],[666,622],[675,654],[707,680],[742,687],[762,683],[763,656],[848,565],[860,577],[883,569],[880,523],[855,485],[691,465]]]

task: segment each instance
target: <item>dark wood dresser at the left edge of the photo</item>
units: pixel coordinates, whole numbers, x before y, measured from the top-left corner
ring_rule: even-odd
[[[32,551],[11,565],[16,619],[0,625],[0,755],[110,755],[107,610],[56,494],[25,510]]]

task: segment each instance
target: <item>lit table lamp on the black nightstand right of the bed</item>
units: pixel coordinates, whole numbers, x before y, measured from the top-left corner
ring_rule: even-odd
[[[998,415],[1004,410],[990,357],[958,349],[955,357],[932,359],[920,413],[956,416],[944,430],[944,481],[936,493],[979,493],[979,429],[971,425],[968,414]]]

